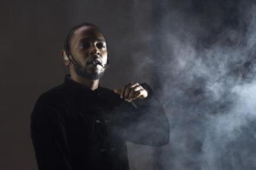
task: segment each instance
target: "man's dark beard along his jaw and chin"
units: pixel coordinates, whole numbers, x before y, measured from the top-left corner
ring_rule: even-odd
[[[87,72],[84,67],[81,66],[81,64],[78,63],[78,65],[74,65],[74,71],[76,71],[76,74],[78,74],[81,77],[84,77],[86,79],[91,80],[97,80],[100,79],[100,77],[103,76],[104,71],[102,72]]]

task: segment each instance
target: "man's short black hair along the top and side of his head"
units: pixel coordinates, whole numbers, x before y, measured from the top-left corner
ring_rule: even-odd
[[[91,23],[81,23],[81,24],[76,25],[73,28],[71,28],[71,30],[69,30],[69,33],[67,33],[67,38],[64,42],[64,50],[66,51],[67,56],[70,55],[70,51],[71,51],[70,41],[71,41],[71,38],[74,35],[74,31],[78,30],[79,28],[81,28],[83,26],[92,26],[92,27],[96,28],[97,30],[100,30],[100,28],[98,28],[98,26],[93,25]]]

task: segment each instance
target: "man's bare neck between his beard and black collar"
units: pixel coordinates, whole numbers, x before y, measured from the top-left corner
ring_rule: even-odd
[[[98,84],[99,84],[98,79],[97,80],[86,79],[85,77],[81,77],[74,72],[71,72],[71,79],[73,79],[73,81],[78,82],[79,84],[89,87],[91,90],[95,90],[98,88]]]

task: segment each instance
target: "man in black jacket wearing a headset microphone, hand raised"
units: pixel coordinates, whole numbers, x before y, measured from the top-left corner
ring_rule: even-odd
[[[168,120],[147,84],[99,86],[109,62],[97,26],[71,29],[61,54],[70,75],[38,98],[31,116],[39,170],[129,169],[125,141],[168,144]]]

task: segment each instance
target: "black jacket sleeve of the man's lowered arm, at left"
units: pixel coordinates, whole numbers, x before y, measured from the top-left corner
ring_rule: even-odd
[[[30,132],[39,170],[71,170],[65,121],[56,106],[39,98],[31,115]]]

